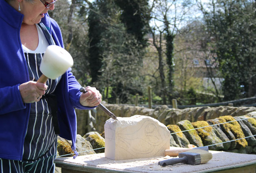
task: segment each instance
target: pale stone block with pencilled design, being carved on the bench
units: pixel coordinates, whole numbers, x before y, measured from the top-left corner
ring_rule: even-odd
[[[170,132],[158,120],[135,115],[108,119],[105,130],[105,156],[112,160],[164,156],[170,148]]]

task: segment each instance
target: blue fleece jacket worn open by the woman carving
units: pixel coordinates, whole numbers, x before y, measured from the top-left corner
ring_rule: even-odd
[[[30,103],[24,104],[18,86],[29,81],[28,68],[20,40],[23,15],[4,0],[0,0],[0,158],[22,160],[23,143],[28,126]],[[61,30],[45,14],[41,22],[52,35],[56,45],[63,47]],[[76,142],[75,108],[91,109],[79,102],[80,84],[71,68],[63,74],[56,88],[60,136]]]

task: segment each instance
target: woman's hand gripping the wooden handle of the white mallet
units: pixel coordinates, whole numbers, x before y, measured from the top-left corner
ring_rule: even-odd
[[[20,94],[23,103],[37,102],[46,93],[47,85],[39,82],[28,81],[20,85]]]

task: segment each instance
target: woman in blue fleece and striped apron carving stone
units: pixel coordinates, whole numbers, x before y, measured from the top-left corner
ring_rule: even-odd
[[[48,10],[56,0],[0,0],[0,172],[52,173],[57,135],[72,140],[76,153],[78,109],[95,108],[101,95],[65,74],[36,82],[48,45],[63,47],[61,31]]]

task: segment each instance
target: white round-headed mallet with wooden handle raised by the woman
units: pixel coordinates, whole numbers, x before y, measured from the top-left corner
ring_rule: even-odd
[[[37,82],[46,83],[48,78],[56,79],[73,65],[72,56],[62,47],[50,45],[46,48],[40,64],[42,75]]]

